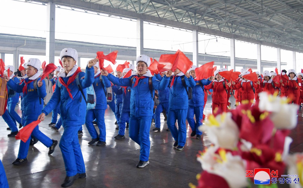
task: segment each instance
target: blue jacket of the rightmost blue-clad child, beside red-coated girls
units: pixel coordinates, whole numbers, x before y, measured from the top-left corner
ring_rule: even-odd
[[[188,100],[188,106],[198,107],[204,106],[204,91],[200,85],[199,81],[195,81],[195,87],[192,87],[192,99]],[[208,85],[211,83],[208,79],[201,80],[202,86]]]

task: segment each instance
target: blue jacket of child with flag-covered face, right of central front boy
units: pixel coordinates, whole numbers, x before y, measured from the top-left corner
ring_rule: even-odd
[[[187,90],[188,87],[194,87],[196,84],[191,76],[190,78],[184,76],[184,80]],[[184,85],[182,84],[181,76],[175,77],[174,84],[170,89],[169,109],[171,110],[188,109],[188,95],[186,93]]]

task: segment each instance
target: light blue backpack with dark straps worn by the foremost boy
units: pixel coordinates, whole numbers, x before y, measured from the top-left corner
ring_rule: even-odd
[[[91,86],[86,88],[86,97],[85,97],[83,89],[82,89],[82,85],[81,85],[80,80],[79,80],[79,73],[77,74],[75,80],[76,80],[76,84],[78,86],[78,89],[80,90],[80,92],[81,92],[81,94],[82,94],[82,96],[85,100],[86,110],[94,109],[95,106],[96,106],[96,103],[97,103],[94,87],[91,85]],[[58,84],[58,87],[61,89],[62,84],[59,81],[57,81],[57,84]],[[87,98],[87,101],[86,101],[86,98]],[[80,98],[80,102],[81,101],[82,101],[82,97]]]

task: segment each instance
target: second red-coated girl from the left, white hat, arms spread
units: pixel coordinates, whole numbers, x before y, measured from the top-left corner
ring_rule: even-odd
[[[248,71],[243,71],[242,76],[250,74]],[[254,83],[253,81],[250,81],[246,78],[243,78],[242,81],[238,82],[236,84],[235,82],[232,82],[234,89],[240,89],[241,88],[241,99],[248,100],[248,104],[251,106],[254,102],[255,94],[254,89],[257,90],[260,88],[260,81],[257,81]]]

